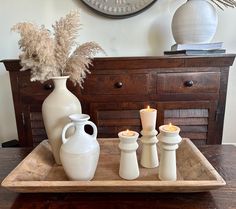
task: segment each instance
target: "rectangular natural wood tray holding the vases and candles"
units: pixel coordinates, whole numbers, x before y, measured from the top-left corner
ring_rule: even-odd
[[[2,186],[16,192],[199,192],[226,184],[189,139],[183,139],[177,150],[177,181],[160,181],[158,168],[141,166],[139,178],[123,180],[118,175],[118,142],[99,139],[101,154],[92,181],[69,181],[63,167],[55,165],[45,140],[4,179]],[[141,146],[138,158],[140,151]]]

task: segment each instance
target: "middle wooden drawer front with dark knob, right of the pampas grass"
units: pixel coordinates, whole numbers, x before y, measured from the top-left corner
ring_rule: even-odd
[[[147,94],[148,74],[89,75],[83,94]]]

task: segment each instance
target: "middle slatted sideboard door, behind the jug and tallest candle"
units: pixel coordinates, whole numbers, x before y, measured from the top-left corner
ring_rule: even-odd
[[[148,105],[155,107],[152,102],[92,103],[91,120],[98,126],[99,137],[118,137],[126,129],[140,133],[139,110]]]

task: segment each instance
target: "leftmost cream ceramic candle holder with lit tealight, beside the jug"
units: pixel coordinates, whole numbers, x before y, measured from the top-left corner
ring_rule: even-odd
[[[139,176],[136,150],[139,134],[135,131],[122,131],[118,134],[121,150],[119,175],[126,180],[133,180]]]

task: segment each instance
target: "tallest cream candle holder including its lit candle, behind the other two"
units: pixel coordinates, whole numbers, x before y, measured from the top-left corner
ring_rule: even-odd
[[[145,168],[155,168],[159,165],[157,154],[157,131],[156,131],[157,110],[150,108],[140,110],[140,117],[143,130],[142,137],[142,153],[140,164]]]

